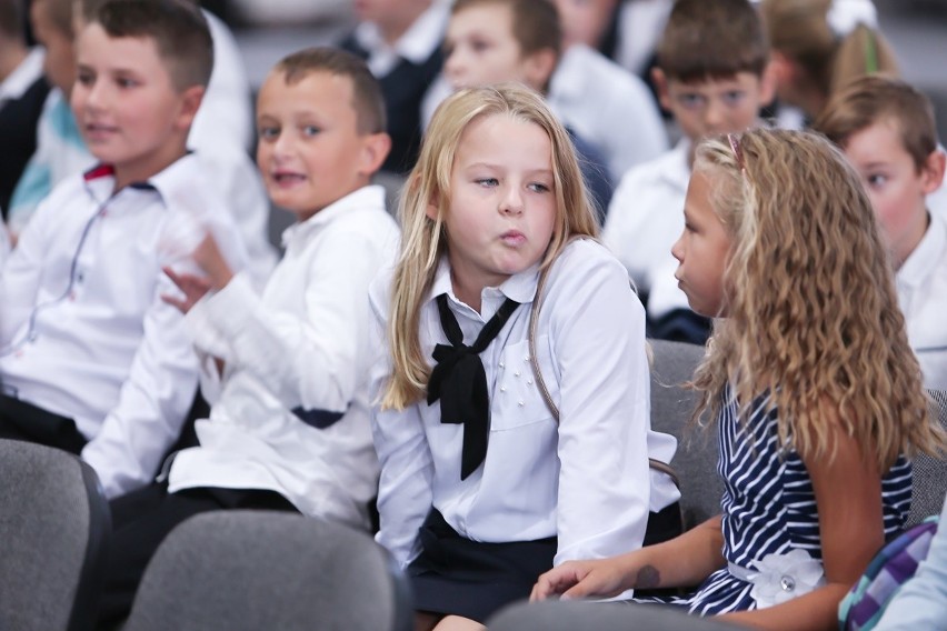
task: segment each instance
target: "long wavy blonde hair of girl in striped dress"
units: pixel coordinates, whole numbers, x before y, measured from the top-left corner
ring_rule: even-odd
[[[858,176],[825,138],[758,129],[696,150],[711,207],[732,240],[727,318],[717,322],[694,385],[717,418],[727,383],[748,403],[769,393],[779,439],[831,457],[819,410],[887,471],[900,453],[943,445],[905,332],[894,274]],[[695,417],[696,418],[696,417]]]

